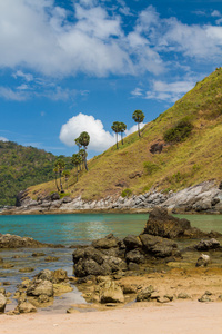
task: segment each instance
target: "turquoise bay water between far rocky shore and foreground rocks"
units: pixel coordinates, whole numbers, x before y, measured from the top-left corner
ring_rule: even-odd
[[[180,215],[202,230],[222,233],[221,215]],[[42,243],[87,244],[113,233],[118,237],[140,234],[148,214],[72,214],[0,216],[0,233],[30,236]]]

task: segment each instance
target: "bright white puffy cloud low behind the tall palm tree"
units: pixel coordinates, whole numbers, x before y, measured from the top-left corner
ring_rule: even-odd
[[[74,146],[74,139],[83,131],[90,135],[89,149],[103,151],[115,143],[114,135],[104,130],[100,119],[81,112],[62,126],[59,138],[65,145]]]

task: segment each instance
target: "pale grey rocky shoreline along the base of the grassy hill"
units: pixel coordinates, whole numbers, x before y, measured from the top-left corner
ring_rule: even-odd
[[[158,147],[159,149],[159,147]],[[138,173],[133,175],[138,176]],[[133,177],[135,177],[133,176]],[[121,186],[122,184],[118,184]],[[83,200],[81,196],[60,198],[58,193],[50,196],[38,197],[33,200],[28,190],[20,191],[17,197],[17,208],[6,208],[2,214],[23,213],[53,213],[75,210],[151,210],[155,206],[162,206],[173,213],[222,213],[222,188],[214,180],[204,181],[185,188],[181,191],[169,193],[155,189],[131,197],[107,196],[99,200]]]

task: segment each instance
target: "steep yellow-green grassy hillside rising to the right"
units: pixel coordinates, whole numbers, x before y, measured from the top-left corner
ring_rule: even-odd
[[[182,136],[178,129],[190,125],[190,134]],[[179,125],[179,126],[178,126]],[[179,134],[169,140],[167,131]],[[175,136],[174,136],[175,137]],[[167,139],[168,140],[167,140]],[[151,153],[153,145],[161,145],[160,154]],[[179,190],[194,184],[222,179],[222,69],[196,82],[195,87],[174,106],[142,129],[142,137],[134,132],[124,145],[111,147],[89,161],[79,181],[74,173],[69,179],[67,193],[85,199],[98,199],[149,189]],[[34,198],[41,191],[56,190],[54,183],[30,188]]]

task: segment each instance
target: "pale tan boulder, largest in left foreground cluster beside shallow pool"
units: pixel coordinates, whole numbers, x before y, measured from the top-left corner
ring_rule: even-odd
[[[28,296],[40,296],[47,295],[48,297],[53,296],[53,285],[50,281],[34,279],[27,289]]]

